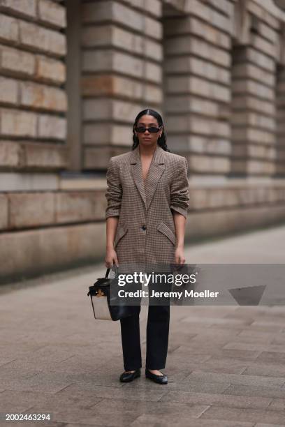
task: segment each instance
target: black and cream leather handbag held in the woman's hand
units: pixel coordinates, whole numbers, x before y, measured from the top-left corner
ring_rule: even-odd
[[[89,286],[87,297],[90,296],[95,319],[120,320],[136,313],[134,306],[110,305],[110,281],[108,268],[105,277],[98,278],[94,285]]]

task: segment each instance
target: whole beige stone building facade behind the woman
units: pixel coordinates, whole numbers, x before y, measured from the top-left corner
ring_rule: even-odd
[[[0,281],[103,261],[146,107],[189,162],[187,241],[284,221],[281,3],[1,0]]]

